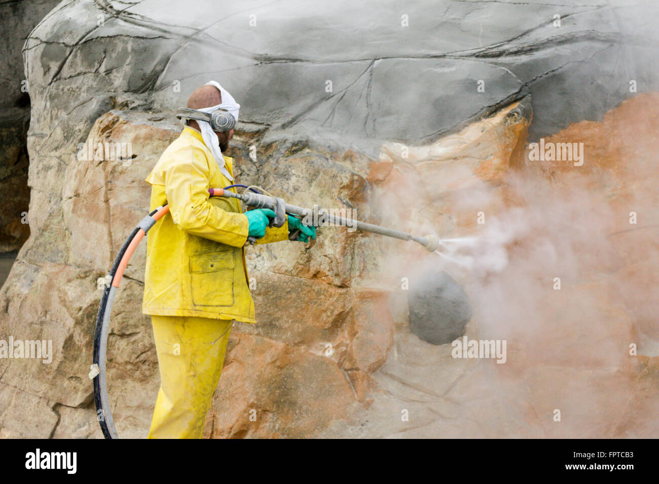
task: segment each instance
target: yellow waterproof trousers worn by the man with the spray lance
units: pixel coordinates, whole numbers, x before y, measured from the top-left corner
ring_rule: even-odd
[[[231,319],[152,316],[160,390],[149,439],[201,439],[219,382]]]

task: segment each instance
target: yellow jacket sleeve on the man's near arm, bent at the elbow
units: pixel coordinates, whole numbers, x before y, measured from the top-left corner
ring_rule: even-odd
[[[249,223],[242,213],[225,211],[208,201],[210,169],[206,156],[190,146],[173,153],[165,170],[165,194],[174,223],[193,235],[242,247]]]

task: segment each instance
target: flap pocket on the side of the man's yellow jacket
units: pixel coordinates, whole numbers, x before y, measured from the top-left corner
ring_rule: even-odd
[[[194,306],[233,306],[233,248],[190,256],[190,285]]]

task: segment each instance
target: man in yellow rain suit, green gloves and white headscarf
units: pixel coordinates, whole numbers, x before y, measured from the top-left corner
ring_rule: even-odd
[[[214,81],[192,92],[187,107],[234,123],[240,109]],[[256,323],[243,247],[248,236],[266,236],[275,217],[270,209],[243,213],[236,198],[209,198],[209,188],[234,184],[233,159],[222,154],[233,128],[194,117],[182,119],[183,132],[146,178],[151,209],[169,203],[149,231],[144,276],[142,312],[151,315],[160,369],[150,439],[202,437],[233,322]],[[287,222],[298,240],[316,238],[314,227]]]

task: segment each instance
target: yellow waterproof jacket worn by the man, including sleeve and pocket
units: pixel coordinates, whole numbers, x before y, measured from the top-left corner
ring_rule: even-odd
[[[233,159],[225,161],[233,176]],[[256,323],[243,250],[247,217],[237,199],[209,198],[208,188],[231,180],[200,132],[185,127],[146,181],[151,209],[169,203],[169,213],[148,232],[142,312]]]

